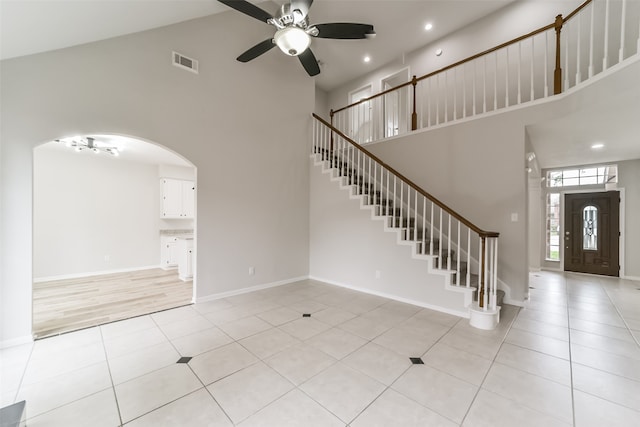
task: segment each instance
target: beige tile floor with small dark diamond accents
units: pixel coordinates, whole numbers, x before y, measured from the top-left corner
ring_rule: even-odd
[[[531,286],[490,332],[312,281],[177,308],[2,350],[1,403],[49,427],[640,425],[640,283]]]

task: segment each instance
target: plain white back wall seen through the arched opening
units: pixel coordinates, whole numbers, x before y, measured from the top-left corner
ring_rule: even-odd
[[[33,157],[33,278],[160,264],[157,166],[45,144]]]

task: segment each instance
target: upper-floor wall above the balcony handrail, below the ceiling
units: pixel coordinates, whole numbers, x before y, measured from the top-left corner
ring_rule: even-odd
[[[381,92],[382,80],[406,67],[409,67],[411,75],[420,77],[520,37],[553,23],[556,15],[567,15],[581,3],[583,0],[522,0],[511,3],[460,31],[443,35],[435,42],[407,53],[404,58],[332,90],[329,107],[335,110],[348,105],[349,92],[368,84],[372,85],[373,93]],[[439,48],[443,53],[436,56],[435,51]]]

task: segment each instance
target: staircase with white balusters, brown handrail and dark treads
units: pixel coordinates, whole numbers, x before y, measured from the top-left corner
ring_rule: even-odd
[[[495,274],[498,233],[473,226],[326,121],[315,118],[311,151],[315,167],[347,191],[350,199],[358,200],[360,208],[381,222],[384,231],[394,233],[397,245],[410,247],[413,260],[424,262],[425,273],[433,278],[425,280],[425,287],[440,283],[443,293],[457,294],[456,302],[440,307],[442,311],[469,317],[475,307],[493,316],[480,327],[495,327],[501,299]],[[435,306],[430,301],[425,304],[439,308],[437,302]]]

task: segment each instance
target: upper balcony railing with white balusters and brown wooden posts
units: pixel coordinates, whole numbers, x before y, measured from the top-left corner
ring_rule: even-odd
[[[529,34],[346,107],[331,124],[360,144],[564,92],[640,53],[640,1],[587,0]]]

